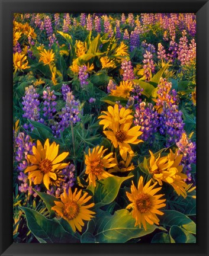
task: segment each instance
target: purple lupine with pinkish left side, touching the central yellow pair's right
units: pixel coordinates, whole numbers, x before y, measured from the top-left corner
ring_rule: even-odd
[[[141,126],[140,131],[143,132],[141,136],[142,140],[149,139],[152,143],[152,139],[157,132],[157,127],[159,126],[158,114],[153,105],[148,103],[146,107],[146,103],[144,101],[138,104],[134,117],[136,117],[134,124],[136,126]]]

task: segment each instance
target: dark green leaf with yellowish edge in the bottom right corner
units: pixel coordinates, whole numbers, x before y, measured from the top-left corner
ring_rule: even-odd
[[[169,231],[171,238],[171,243],[195,243],[196,238],[191,233],[185,231],[185,229],[180,228],[179,226],[173,225]]]

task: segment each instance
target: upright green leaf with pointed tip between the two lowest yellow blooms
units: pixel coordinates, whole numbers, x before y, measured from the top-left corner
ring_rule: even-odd
[[[97,207],[110,204],[118,194],[121,184],[130,179],[133,176],[128,177],[108,177],[104,180],[97,181],[97,186],[94,188],[89,187],[89,190],[94,194],[94,203]]]

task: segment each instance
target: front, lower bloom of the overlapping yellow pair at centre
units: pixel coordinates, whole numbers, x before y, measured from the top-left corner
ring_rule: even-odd
[[[121,125],[113,123],[112,131],[104,131],[104,134],[111,140],[114,147],[118,148],[119,146],[120,155],[124,161],[127,159],[127,152],[130,153],[131,156],[134,155],[129,143],[138,144],[143,142],[143,140],[137,139],[142,135],[142,132],[139,131],[141,126],[134,126],[130,129],[131,124],[132,122],[122,123]]]

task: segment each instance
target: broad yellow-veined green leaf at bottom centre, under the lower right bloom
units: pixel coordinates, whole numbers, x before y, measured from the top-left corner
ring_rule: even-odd
[[[118,210],[114,215],[104,212],[96,221],[95,241],[99,243],[124,243],[155,231],[157,226],[147,224],[147,230],[135,225],[135,219],[127,209]]]

